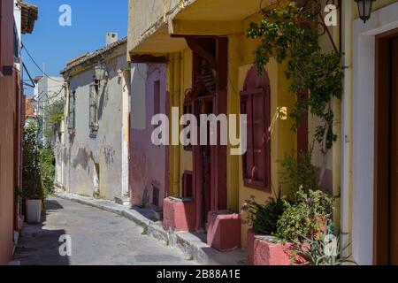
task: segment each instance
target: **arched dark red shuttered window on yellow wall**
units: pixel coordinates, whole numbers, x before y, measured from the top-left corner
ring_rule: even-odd
[[[256,72],[256,69],[254,70]],[[245,89],[241,92],[241,114],[248,115],[248,150],[242,156],[245,186],[271,189],[270,87],[268,76],[252,80],[249,71]],[[263,82],[258,85],[258,82]],[[253,85],[253,84],[254,85]]]

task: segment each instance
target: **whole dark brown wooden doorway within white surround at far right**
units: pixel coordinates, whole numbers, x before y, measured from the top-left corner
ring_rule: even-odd
[[[375,264],[398,264],[398,30],[376,37]]]

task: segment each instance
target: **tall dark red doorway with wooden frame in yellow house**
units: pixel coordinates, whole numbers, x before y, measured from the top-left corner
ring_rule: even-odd
[[[193,86],[186,97],[192,106],[188,109],[198,121],[201,114],[226,114],[227,38],[192,36],[186,40],[193,51]],[[226,210],[226,146],[207,144],[192,147],[195,229],[199,232],[206,231],[210,211]]]

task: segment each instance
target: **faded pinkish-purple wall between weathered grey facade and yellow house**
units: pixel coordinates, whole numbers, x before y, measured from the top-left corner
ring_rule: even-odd
[[[163,200],[167,191],[167,147],[155,146],[151,142],[151,135],[154,126],[151,126],[151,119],[158,109],[160,113],[168,115],[169,101],[166,95],[166,65],[148,65],[147,79],[145,83],[145,129],[131,129],[131,173],[130,189],[131,202],[133,205],[142,206],[143,203],[150,206],[153,203],[152,185],[156,184],[160,190],[159,207],[163,206]],[[155,101],[157,88],[160,90]],[[134,89],[132,89],[134,92]],[[148,197],[144,197],[148,195]],[[147,199],[147,202],[143,202]]]

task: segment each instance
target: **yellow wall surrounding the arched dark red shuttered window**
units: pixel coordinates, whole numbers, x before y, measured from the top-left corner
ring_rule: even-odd
[[[259,20],[258,15],[249,17],[243,22],[244,30],[247,30],[249,23],[251,21]],[[234,43],[234,44],[233,44]],[[231,50],[239,50],[240,56],[235,54],[230,54],[230,77],[234,82],[234,88],[240,92],[243,88],[244,80],[249,69],[252,67],[254,62],[253,52],[256,49],[258,42],[256,40],[246,38],[245,34],[241,34],[239,38],[235,41],[230,40],[230,52]],[[234,46],[235,45],[235,46]],[[236,51],[235,51],[236,52]],[[237,69],[236,69],[237,68]],[[285,106],[287,107],[287,112],[292,109],[295,103],[295,96],[288,92],[287,90],[287,79],[284,74],[284,66],[279,65],[276,61],[272,60],[265,67],[271,82],[271,115],[275,115],[277,107]],[[236,84],[237,83],[237,84]],[[234,106],[239,109],[239,96],[234,94],[231,96],[236,97],[236,100],[231,98],[232,103],[238,103]],[[291,131],[292,121],[278,120],[271,139],[271,176],[272,176],[272,187],[274,190],[278,191],[279,187],[282,188],[284,193],[287,193],[286,188],[280,186],[279,182],[279,172],[282,171],[279,160],[281,160],[286,154],[291,153],[297,147],[296,134]],[[271,196],[270,193],[265,193],[250,187],[245,187],[243,184],[243,174],[242,174],[242,159],[238,157],[239,164],[239,205],[240,207],[249,200],[251,196],[255,196],[256,202],[265,203]],[[230,180],[230,178],[229,178]],[[242,217],[246,218],[245,214],[242,213]],[[243,224],[241,231],[242,245],[246,244],[248,226]]]

